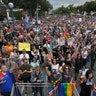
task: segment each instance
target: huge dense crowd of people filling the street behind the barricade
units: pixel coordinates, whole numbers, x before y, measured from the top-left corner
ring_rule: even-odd
[[[52,15],[42,17],[38,24],[33,21],[31,25],[21,21],[15,25],[0,24],[0,74],[4,75],[3,79],[0,77],[1,94],[10,96],[9,81],[12,84],[14,81],[43,83],[46,78],[48,83],[53,83],[61,78],[62,83],[80,81],[80,96],[91,96],[89,90],[96,61],[96,17]],[[19,50],[19,42],[29,43],[30,51]],[[42,88],[33,90],[34,96],[38,90],[44,96]]]

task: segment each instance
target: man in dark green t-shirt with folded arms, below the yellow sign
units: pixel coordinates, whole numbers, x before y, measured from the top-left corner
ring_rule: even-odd
[[[24,64],[22,64],[19,68],[19,79],[23,82],[30,82],[31,79],[31,73],[32,73],[32,67],[30,64],[28,64],[28,59],[23,59]]]

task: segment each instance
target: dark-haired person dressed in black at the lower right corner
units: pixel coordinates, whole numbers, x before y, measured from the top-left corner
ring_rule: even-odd
[[[91,96],[92,85],[93,85],[93,73],[91,70],[87,70],[85,76],[81,77],[80,96]]]

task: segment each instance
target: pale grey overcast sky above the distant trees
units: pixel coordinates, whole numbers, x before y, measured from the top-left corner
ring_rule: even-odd
[[[92,0],[48,0],[48,1],[53,5],[53,9],[56,9],[62,5],[64,6],[68,6],[70,4],[82,5],[86,1],[92,1]]]

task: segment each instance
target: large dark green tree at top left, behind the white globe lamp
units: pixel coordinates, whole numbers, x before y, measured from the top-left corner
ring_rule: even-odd
[[[8,5],[9,2],[14,3],[14,7],[27,10],[30,15],[34,15],[37,6],[40,6],[40,11],[45,12],[52,9],[52,5],[47,0],[5,0],[4,3]]]

